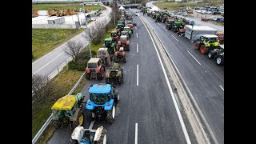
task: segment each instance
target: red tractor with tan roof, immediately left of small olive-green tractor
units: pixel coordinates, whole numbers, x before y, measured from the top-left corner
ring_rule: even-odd
[[[102,80],[106,67],[102,64],[101,58],[90,58],[86,67],[86,78],[96,78]]]

